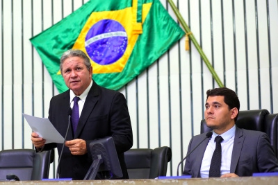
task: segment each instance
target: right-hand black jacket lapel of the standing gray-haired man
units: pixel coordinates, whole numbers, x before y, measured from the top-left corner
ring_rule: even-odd
[[[83,127],[85,126],[85,123],[87,122],[88,117],[90,116],[92,109],[94,109],[98,100],[99,100],[99,86],[95,81],[93,81],[92,87],[85,100],[85,104],[83,106],[81,116],[79,118],[79,124],[74,134],[74,139],[77,139],[79,137],[79,134],[81,134],[81,131],[83,130]]]

